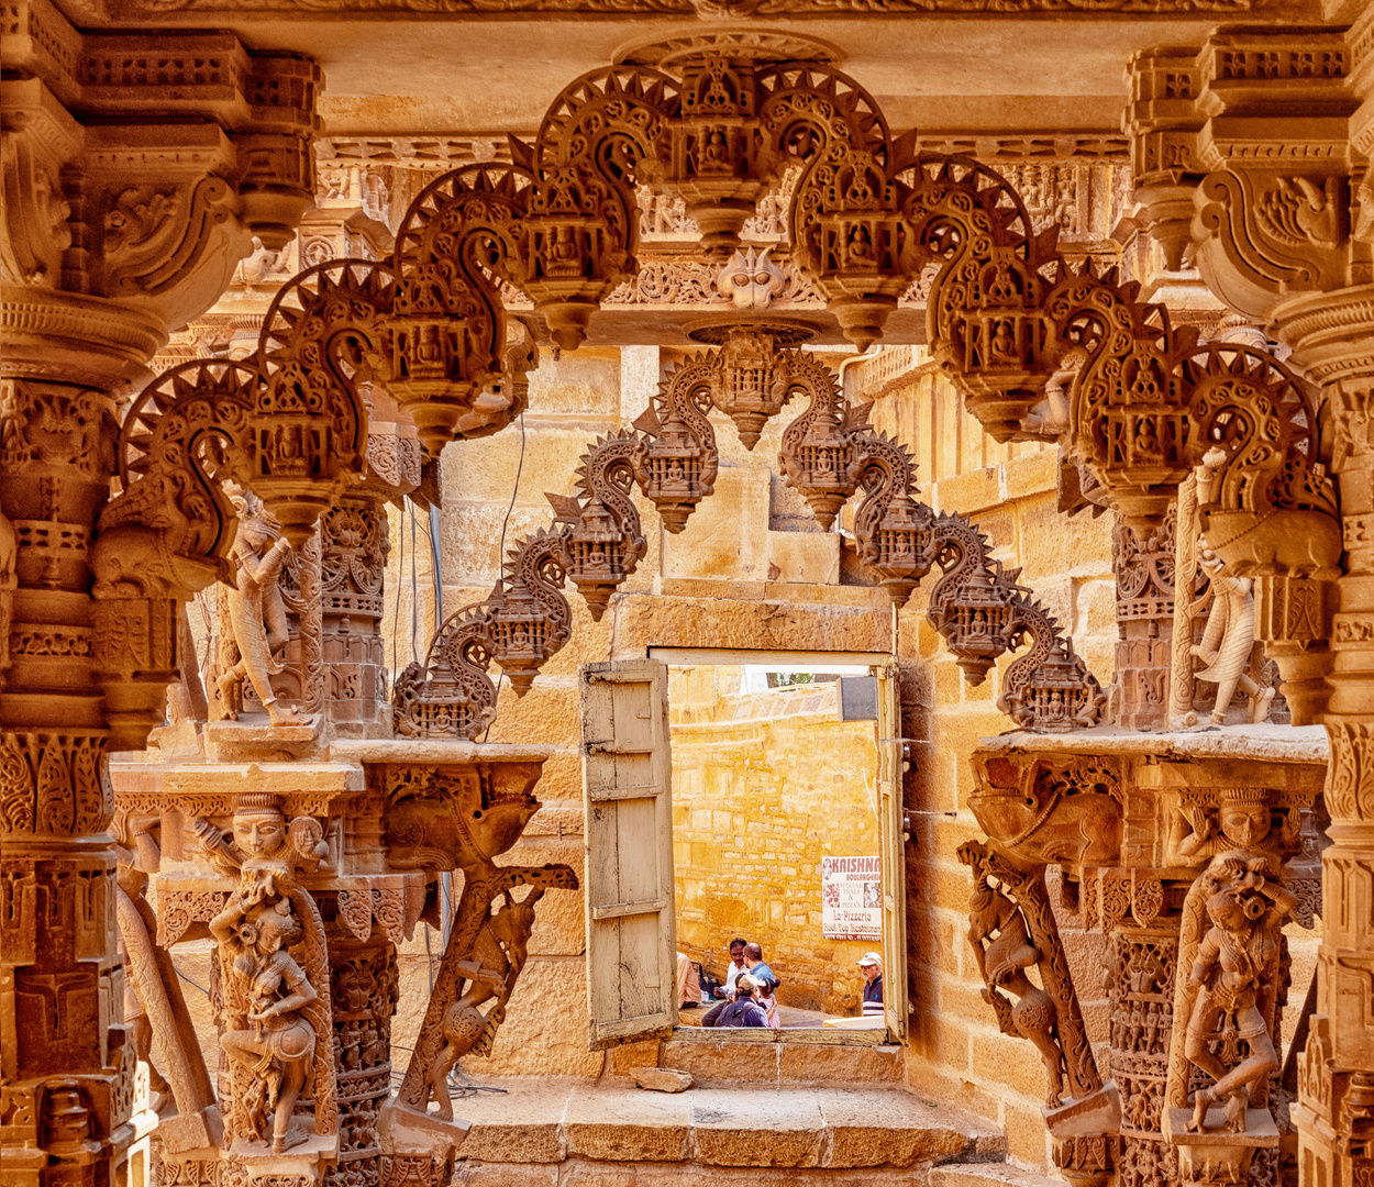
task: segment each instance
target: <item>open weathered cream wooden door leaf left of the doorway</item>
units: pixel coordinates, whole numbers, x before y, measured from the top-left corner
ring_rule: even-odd
[[[677,1022],[668,669],[583,664],[591,1050]]]

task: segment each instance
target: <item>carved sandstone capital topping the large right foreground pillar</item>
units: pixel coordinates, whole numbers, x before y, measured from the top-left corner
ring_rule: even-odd
[[[1136,198],[1178,260],[1189,224],[1208,286],[1250,317],[1370,279],[1367,220],[1352,218],[1352,45],[1340,30],[1223,27],[1195,52],[1131,63]]]

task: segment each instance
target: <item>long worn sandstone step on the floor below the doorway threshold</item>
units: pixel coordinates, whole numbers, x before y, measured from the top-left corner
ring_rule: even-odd
[[[500,1087],[508,1094],[453,1102],[455,1116],[471,1124],[459,1155],[466,1169],[569,1160],[914,1169],[1000,1150],[987,1122],[930,1107],[900,1087],[690,1088],[677,1094],[647,1092],[622,1081],[562,1087],[507,1080]]]

